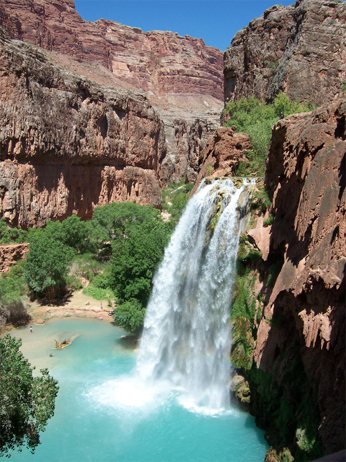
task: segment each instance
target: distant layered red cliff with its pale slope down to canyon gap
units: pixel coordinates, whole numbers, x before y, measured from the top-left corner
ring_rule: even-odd
[[[64,69],[146,94],[165,126],[163,181],[195,179],[195,143],[198,148],[215,130],[223,108],[221,51],[172,32],[84,21],[73,0],[0,0],[0,26],[14,39],[44,48]],[[176,133],[182,131],[184,139]]]

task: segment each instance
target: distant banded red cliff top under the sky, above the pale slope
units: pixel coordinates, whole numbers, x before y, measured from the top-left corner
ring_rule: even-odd
[[[1,0],[0,25],[13,39],[98,62],[134,89],[206,94],[223,100],[222,54],[202,39],[84,21],[73,0]]]

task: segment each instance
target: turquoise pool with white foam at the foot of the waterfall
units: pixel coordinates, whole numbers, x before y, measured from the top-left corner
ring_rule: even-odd
[[[14,452],[10,461],[264,460],[268,447],[253,417],[236,408],[203,416],[179,404],[179,391],[146,389],[134,373],[134,344],[110,323],[55,319],[11,334],[22,338],[33,365],[49,368],[60,391],[35,454]],[[74,336],[55,350],[54,339]]]

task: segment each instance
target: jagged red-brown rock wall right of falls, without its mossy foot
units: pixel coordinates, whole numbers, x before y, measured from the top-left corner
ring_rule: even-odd
[[[267,261],[283,265],[257,332],[255,361],[284,386],[302,361],[326,454],[345,445],[346,100],[273,129],[266,186],[275,218]]]

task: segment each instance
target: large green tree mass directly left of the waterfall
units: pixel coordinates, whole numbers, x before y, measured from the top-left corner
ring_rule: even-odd
[[[152,206],[127,202],[107,208],[102,213],[95,209],[95,229],[102,222],[107,239],[111,239],[108,283],[119,302],[114,319],[129,332],[136,332],[143,325],[152,277],[163,258],[172,225],[163,223],[160,212]]]

